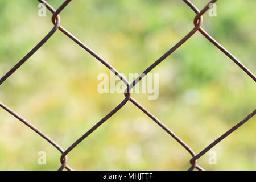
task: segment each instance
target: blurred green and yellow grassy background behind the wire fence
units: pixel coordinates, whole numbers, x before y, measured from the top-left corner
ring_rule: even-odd
[[[57,9],[64,1],[48,0]],[[194,0],[202,9],[208,1]],[[217,16],[203,27],[256,72],[256,1],[217,1]],[[38,1],[0,1],[0,73],[9,71],[53,27],[38,16]],[[72,1],[61,25],[121,73],[141,73],[193,28],[195,13],[183,1]],[[124,98],[100,94],[99,61],[57,31],[1,85],[0,101],[68,148]],[[255,82],[199,32],[151,73],[159,73],[159,98],[133,97],[196,153],[255,109]],[[192,100],[192,101],[191,101]],[[0,110],[0,169],[55,170],[60,153],[34,131]],[[205,169],[256,169],[256,118],[217,144],[217,164]],[[46,151],[46,165],[38,152]],[[73,169],[185,170],[191,156],[128,102],[68,155]]]

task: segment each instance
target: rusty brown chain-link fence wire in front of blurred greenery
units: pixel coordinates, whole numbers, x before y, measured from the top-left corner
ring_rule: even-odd
[[[217,143],[221,142],[224,138],[228,137],[233,131],[237,130],[240,126],[242,126],[245,122],[247,122],[250,118],[254,117],[256,114],[256,109],[247,115],[244,119],[242,119],[241,122],[237,123],[237,125],[233,126],[232,129],[228,130],[226,133],[221,135],[221,137],[217,138],[214,140],[213,143],[211,143],[209,146],[207,146],[204,150],[199,152],[199,154],[195,154],[193,150],[185,143],[183,140],[181,140],[175,133],[173,133],[167,126],[165,126],[161,121],[159,121],[158,118],[156,118],[153,114],[150,113],[147,109],[145,109],[141,104],[139,104],[133,97],[131,97],[130,90],[133,89],[133,87],[144,77],[152,71],[158,64],[160,64],[164,59],[166,59],[168,56],[171,55],[177,48],[179,48],[183,43],[185,43],[193,34],[195,34],[196,31],[201,32],[205,38],[207,38],[214,46],[216,46],[218,49],[220,49],[221,52],[223,52],[226,56],[228,56],[234,63],[238,65],[248,76],[250,76],[254,81],[256,81],[255,75],[250,72],[248,68],[245,67],[236,57],[234,57],[231,53],[229,53],[224,47],[221,46],[220,43],[218,43],[216,40],[214,40],[202,27],[201,25],[203,24],[203,14],[210,8],[211,3],[215,3],[217,0],[212,0],[210,1],[201,11],[197,9],[193,3],[191,3],[189,0],[183,0],[193,11],[195,11],[196,16],[193,20],[193,23],[195,24],[195,27],[186,35],[184,36],[183,39],[180,40],[174,47],[172,47],[170,50],[168,50],[162,57],[160,57],[158,60],[156,60],[154,63],[150,65],[145,71],[138,77],[136,78],[131,84],[126,80],[125,77],[123,77],[117,69],[115,69],[112,65],[108,63],[108,61],[104,60],[101,56],[99,56],[96,52],[94,52],[92,49],[90,49],[88,46],[86,46],[84,43],[82,43],[79,39],[77,39],[75,36],[73,36],[70,32],[65,30],[64,27],[60,25],[60,16],[59,14],[61,11],[68,5],[69,2],[72,0],[66,0],[64,3],[59,7],[59,9],[55,10],[51,5],[49,5],[46,1],[44,0],[38,0],[40,3],[44,3],[46,5],[47,9],[51,11],[52,15],[52,23],[54,24],[54,27],[52,30],[30,51],[27,53],[26,56],[22,58],[13,68],[10,69],[9,72],[6,73],[1,79],[0,79],[0,85],[7,79],[9,78],[22,64],[24,64],[40,47],[43,46],[44,43],[47,42],[49,38],[56,32],[57,29],[59,29],[63,34],[67,35],[68,38],[72,39],[76,44],[78,44],[80,47],[85,49],[86,52],[90,53],[93,57],[95,57],[98,61],[100,61],[102,64],[105,65],[110,71],[112,71],[115,75],[117,75],[120,80],[122,80],[126,86],[127,89],[125,91],[125,99],[118,105],[116,106],[109,114],[107,114],[104,118],[102,118],[96,125],[94,125],[89,131],[87,131],[82,137],[76,140],[73,144],[71,144],[70,147],[68,147],[67,150],[63,150],[55,141],[53,141],[51,138],[49,138],[46,134],[44,134],[42,131],[37,129],[35,126],[33,126],[31,123],[27,122],[25,119],[20,117],[18,114],[16,114],[13,110],[11,110],[9,107],[6,105],[2,104],[0,102],[0,107],[2,109],[6,110],[8,113],[13,115],[15,118],[19,119],[19,121],[23,122],[25,125],[30,127],[30,129],[34,130],[36,133],[38,133],[42,138],[46,139],[47,142],[52,144],[57,150],[61,152],[61,157],[60,157],[60,162],[61,162],[61,167],[59,170],[63,170],[64,168],[67,170],[72,170],[71,167],[68,166],[68,158],[67,155],[69,152],[71,152],[77,144],[82,142],[88,135],[92,134],[94,130],[96,130],[99,126],[102,125],[105,121],[107,121],[112,115],[117,113],[119,109],[121,109],[128,101],[132,102],[138,109],[143,111],[148,117],[150,117],[156,124],[158,124],[164,131],[166,131],[169,135],[171,135],[172,138],[174,138],[177,142],[181,144],[189,152],[189,154],[192,155],[192,159],[190,160],[191,167],[189,170],[193,169],[199,169],[199,170],[204,170],[197,164],[197,159],[199,159],[201,156],[203,156],[206,152],[208,152],[213,146],[215,146]]]

